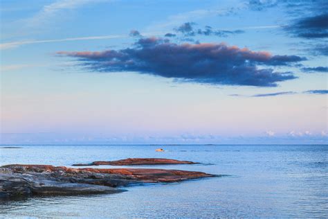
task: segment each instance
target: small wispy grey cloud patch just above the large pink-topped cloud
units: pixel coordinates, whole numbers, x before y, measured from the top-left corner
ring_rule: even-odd
[[[185,37],[194,37],[196,35],[228,37],[228,35],[244,33],[244,30],[215,30],[211,26],[205,26],[203,29],[194,28],[195,25],[193,22],[187,22],[175,30],[177,33],[182,33]]]

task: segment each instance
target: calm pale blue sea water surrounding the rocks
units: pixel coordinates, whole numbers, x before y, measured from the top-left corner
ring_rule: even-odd
[[[131,186],[117,194],[12,201],[0,205],[3,218],[328,218],[328,146],[164,146],[165,152],[155,152],[158,146],[21,147],[0,149],[0,164],[163,157],[202,164],[152,168],[224,176]]]

